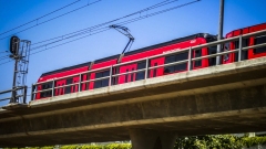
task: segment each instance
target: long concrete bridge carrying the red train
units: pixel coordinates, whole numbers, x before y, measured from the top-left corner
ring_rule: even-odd
[[[266,130],[266,57],[0,109],[1,147],[132,140],[170,149],[178,136]]]

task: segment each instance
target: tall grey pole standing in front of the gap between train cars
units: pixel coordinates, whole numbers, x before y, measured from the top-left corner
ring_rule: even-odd
[[[223,39],[223,28],[224,28],[224,0],[219,0],[219,25],[218,25],[218,36],[217,40]],[[221,52],[222,44],[217,45],[217,53]],[[221,64],[221,56],[216,57],[216,65]]]

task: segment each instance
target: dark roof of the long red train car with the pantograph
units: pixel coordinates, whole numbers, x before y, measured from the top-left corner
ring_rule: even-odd
[[[130,52],[124,53],[124,55],[125,56],[133,55],[133,54],[136,54],[136,53],[140,53],[140,52],[145,52],[145,51],[149,51],[149,50],[152,50],[152,49],[158,49],[158,47],[171,45],[171,44],[174,44],[174,43],[184,42],[184,41],[187,41],[187,40],[193,40],[195,38],[206,38],[206,35],[207,36],[215,36],[215,35],[209,35],[209,34],[206,34],[206,33],[196,33],[196,34],[192,34],[192,35],[188,35],[188,36],[178,38],[178,39],[171,40],[171,41],[167,41],[167,42],[163,42],[163,43],[154,44],[154,45],[151,45],[151,46],[142,47],[142,49],[139,49],[139,50],[130,51]],[[116,55],[108,56],[108,57],[104,57],[104,58],[95,60],[94,64],[102,63],[102,62],[110,61],[110,60],[114,60],[114,58],[119,58],[119,56],[120,56],[120,54],[116,54]],[[91,64],[91,62],[86,62],[86,63],[82,63],[82,64],[78,64],[78,65],[73,65],[73,66],[69,66],[69,67],[59,68],[59,70],[55,70],[55,71],[43,73],[41,75],[41,77],[47,76],[47,75],[51,75],[51,74],[55,74],[55,73],[60,73],[60,72],[70,71],[70,70],[73,70],[73,68],[79,68],[79,67],[82,67],[82,66],[89,66],[90,64]]]

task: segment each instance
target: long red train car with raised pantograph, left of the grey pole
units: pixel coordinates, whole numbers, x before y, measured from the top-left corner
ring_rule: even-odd
[[[126,62],[151,57],[151,56],[163,54],[163,53],[182,51],[185,47],[205,44],[216,40],[217,39],[215,35],[211,35],[207,33],[197,33],[190,36],[160,43],[156,45],[134,50],[134,51],[124,53],[123,56],[113,55],[110,57],[96,60],[94,62],[86,62],[80,65],[74,65],[71,67],[48,72],[42,74],[41,77],[38,79],[38,83],[40,83],[40,85],[38,85],[37,91],[38,92],[41,91],[41,93],[37,93],[34,99],[42,99],[42,98],[50,97],[52,95],[52,91],[45,91],[45,89],[52,88],[53,84],[55,87],[55,89],[53,91],[54,96],[74,93],[78,91],[90,91],[94,88],[109,86],[109,78],[90,82],[92,79],[110,76],[111,72],[109,68],[99,71],[99,72],[83,74],[82,76],[79,76],[78,74],[82,72],[93,71],[93,70],[103,68],[103,67],[117,64],[119,62],[117,58],[120,58],[120,63],[123,64]],[[203,49],[193,51],[192,57],[205,56],[213,53],[216,53],[216,47],[203,47]],[[167,63],[183,61],[183,60],[187,60],[187,57],[188,57],[188,52],[183,52],[178,54],[172,54],[167,56],[151,58],[149,62],[149,66],[158,66]],[[216,62],[215,57],[195,61],[192,63],[192,68],[196,70],[196,68],[212,66],[212,65],[215,65],[215,62]],[[146,67],[146,63],[144,61],[139,63],[131,63],[127,65],[122,65],[120,67],[116,67],[115,70],[112,71],[112,74],[132,72],[132,71],[145,68],[145,67]],[[173,74],[173,73],[178,73],[184,71],[187,71],[187,63],[150,70],[147,77],[162,76],[162,75],[167,75],[167,74]],[[112,79],[112,85],[140,81],[140,79],[144,79],[144,77],[145,77],[144,72],[125,74],[125,75],[114,77]],[[78,87],[79,85],[76,83],[79,82],[80,78],[85,83],[82,83],[81,87],[79,88]],[[53,79],[55,79],[54,83],[52,83]],[[42,82],[45,82],[45,84],[41,84]],[[68,86],[69,84],[73,84],[73,83],[75,83],[75,85]]]

